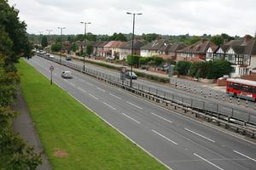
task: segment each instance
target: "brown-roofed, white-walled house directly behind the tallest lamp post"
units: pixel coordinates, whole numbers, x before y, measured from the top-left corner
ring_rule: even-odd
[[[126,56],[131,54],[132,41],[122,43],[119,46],[119,59],[126,59]],[[143,42],[140,40],[133,41],[133,54],[140,55],[141,47],[143,47]]]

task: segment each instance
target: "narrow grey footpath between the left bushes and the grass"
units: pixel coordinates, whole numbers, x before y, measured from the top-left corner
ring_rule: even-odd
[[[43,147],[40,142],[38,133],[34,127],[32,119],[29,115],[29,111],[26,105],[26,101],[23,98],[20,91],[17,94],[17,101],[14,106],[15,111],[20,113],[13,121],[13,129],[16,133],[19,133],[20,136],[29,144],[34,146],[34,150],[37,153],[43,152]],[[51,166],[44,152],[42,154],[43,164],[38,167],[38,170],[51,170]]]

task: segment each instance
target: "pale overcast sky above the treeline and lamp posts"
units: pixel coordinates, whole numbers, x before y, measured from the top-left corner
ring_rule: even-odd
[[[136,15],[135,34],[201,36],[204,33],[230,36],[256,31],[255,0],[9,0],[20,11],[27,32],[66,27],[63,34],[83,34],[81,21],[91,22],[87,31],[93,34],[131,33],[131,13]]]

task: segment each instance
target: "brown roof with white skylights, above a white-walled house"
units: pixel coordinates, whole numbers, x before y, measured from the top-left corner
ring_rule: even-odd
[[[147,45],[144,45],[141,49],[166,51],[170,46],[171,44],[167,40],[161,39],[150,42]]]

